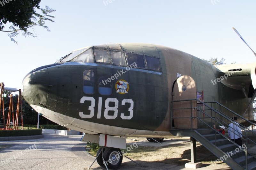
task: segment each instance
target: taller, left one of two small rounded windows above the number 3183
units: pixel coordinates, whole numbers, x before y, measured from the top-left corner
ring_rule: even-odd
[[[84,70],[84,93],[93,94],[95,85],[95,73],[92,70]]]

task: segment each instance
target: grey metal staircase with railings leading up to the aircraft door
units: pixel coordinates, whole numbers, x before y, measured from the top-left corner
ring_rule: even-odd
[[[172,101],[172,103],[174,102],[180,102],[180,105],[182,105],[182,103],[184,102],[190,102],[191,107],[173,108],[173,105],[171,105],[172,106],[171,108],[172,124],[174,119],[188,120],[189,118],[191,119],[190,122],[192,122],[193,119],[194,120],[196,119],[198,123],[198,129],[195,129],[195,128],[192,129],[192,125],[191,125],[191,129],[177,129],[175,128],[175,126],[172,126],[172,128],[170,129],[170,133],[172,133],[175,136],[193,137],[198,142],[200,142],[205,148],[211,151],[215,156],[217,156],[219,158],[217,159],[217,161],[223,161],[233,169],[246,169],[246,170],[255,169],[256,170],[256,159],[251,154],[248,153],[248,149],[256,145],[255,129],[253,131],[253,128],[252,129],[247,128],[250,125],[256,126],[254,123],[236,114],[235,112],[221,105],[218,102],[204,103],[197,99]],[[196,105],[195,103],[193,105],[192,104],[193,102],[196,102]],[[214,108],[213,108],[213,105],[214,105]],[[196,107],[192,107],[192,106],[196,106]],[[189,109],[191,110],[191,112],[192,110],[196,109],[197,116],[192,116],[193,114],[191,113],[191,116],[187,116],[187,117],[184,117],[184,116],[174,117],[173,112],[175,112],[175,110],[177,109],[179,110]],[[198,116],[198,115],[203,115],[203,116]],[[226,129],[228,129],[229,123],[231,122],[235,123],[232,120],[231,116],[236,116],[240,122],[243,122],[248,125],[247,127],[245,127],[240,123],[238,123],[239,125],[237,125],[242,129],[242,136],[245,139],[243,141],[242,146],[237,145],[234,141],[228,138],[228,135],[224,136],[219,131],[215,130],[212,126],[213,124],[223,125],[226,127]],[[234,129],[230,129],[230,130],[234,130]],[[215,162],[213,161],[212,163],[215,163]]]

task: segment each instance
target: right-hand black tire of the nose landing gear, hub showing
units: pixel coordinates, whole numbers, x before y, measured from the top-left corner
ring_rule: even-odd
[[[107,162],[108,168],[115,169],[121,165],[123,154],[120,149],[109,147],[103,152],[103,158]]]

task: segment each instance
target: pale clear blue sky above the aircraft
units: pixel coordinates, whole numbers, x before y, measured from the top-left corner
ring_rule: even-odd
[[[254,0],[42,0],[45,5],[56,10],[55,23],[46,22],[51,32],[35,27],[37,38],[19,35],[18,45],[0,32],[5,87],[22,89],[29,71],[77,48],[109,42],[164,45],[202,59],[223,57],[227,64],[256,61],[232,29],[256,51]]]

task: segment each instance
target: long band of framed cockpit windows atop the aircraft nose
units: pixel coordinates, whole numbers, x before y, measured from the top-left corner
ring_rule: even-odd
[[[99,46],[87,46],[80,48],[62,57],[56,63],[99,63],[115,66],[130,66],[145,70],[161,72],[160,58],[153,55],[145,55],[134,51],[125,50],[119,44],[108,44]],[[136,67],[135,67],[135,65]]]

